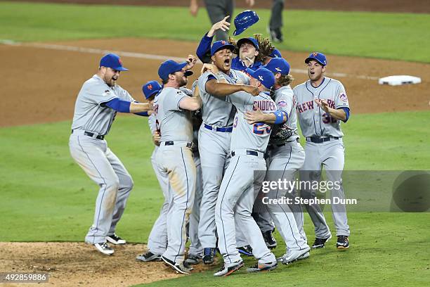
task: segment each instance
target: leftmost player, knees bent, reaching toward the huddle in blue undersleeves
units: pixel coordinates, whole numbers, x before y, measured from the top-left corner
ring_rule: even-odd
[[[117,112],[143,113],[152,108],[149,103],[134,101],[129,92],[117,84],[119,73],[126,70],[114,53],[100,59],[98,72],[82,85],[77,96],[69,141],[72,158],[100,186],[93,225],[85,242],[106,255],[114,253],[106,241],[126,243],[115,234],[115,227],[124,212],[133,179],[107,146],[105,136]]]

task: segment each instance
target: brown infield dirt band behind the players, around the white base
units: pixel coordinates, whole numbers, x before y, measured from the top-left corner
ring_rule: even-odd
[[[102,39],[55,44],[168,57],[185,57],[197,46],[193,42],[157,39]],[[8,67],[3,77],[5,96],[1,102],[1,127],[72,119],[77,93],[82,83],[96,73],[102,52],[62,51],[61,46],[53,50],[0,44],[0,61]],[[293,85],[304,82],[307,76],[301,71],[305,70],[303,61],[307,53],[282,51],[282,55],[294,69]],[[162,60],[134,56],[122,56],[122,59],[130,71],[122,73],[119,84],[137,101],[143,101],[141,85],[150,79],[158,79],[157,69]],[[328,60],[328,76],[344,83],[352,113],[430,108],[430,64],[331,55]],[[197,65],[191,79],[196,78],[200,67]],[[338,77],[330,74],[333,72],[345,75]],[[422,84],[389,87],[377,83],[376,78],[388,75],[414,75],[422,78]],[[364,76],[374,79],[360,78]]]

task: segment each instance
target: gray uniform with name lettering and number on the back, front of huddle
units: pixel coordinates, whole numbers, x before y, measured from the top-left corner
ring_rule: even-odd
[[[254,103],[263,113],[276,110],[275,103],[268,94],[253,97],[245,92],[237,92],[227,97],[237,108],[231,136],[230,165],[223,177],[216,200],[215,221],[219,235],[219,250],[226,266],[241,260],[235,241],[235,225],[240,226],[254,257],[259,262],[274,262],[275,255],[268,250],[261,231],[252,218],[252,206],[266,174],[266,152],[271,127],[257,123],[249,125],[244,118],[246,110]]]

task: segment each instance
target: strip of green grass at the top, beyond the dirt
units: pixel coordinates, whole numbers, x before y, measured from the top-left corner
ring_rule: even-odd
[[[261,20],[245,37],[267,35],[270,11],[257,13]],[[430,63],[430,37],[423,37],[430,30],[429,14],[285,10],[283,18],[286,41],[276,45],[280,49]],[[199,41],[210,27],[204,9],[193,18],[180,7],[12,2],[0,2],[0,25],[0,39],[32,42],[117,37]]]

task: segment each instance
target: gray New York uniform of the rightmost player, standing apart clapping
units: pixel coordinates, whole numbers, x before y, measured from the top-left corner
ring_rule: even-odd
[[[306,137],[306,158],[301,169],[301,180],[320,180],[321,167],[324,166],[329,181],[340,181],[344,170],[344,135],[340,121],[325,113],[315,99],[326,99],[331,108],[349,108],[346,91],[341,82],[325,77],[319,87],[313,87],[306,81],[294,88],[297,97],[297,115],[302,134]],[[301,191],[303,196],[313,197],[315,191]],[[344,198],[344,190],[332,189],[331,196]],[[328,238],[330,229],[319,205],[305,205],[315,225],[315,236]],[[345,205],[332,205],[332,216],[337,235],[349,236],[348,219]]]

